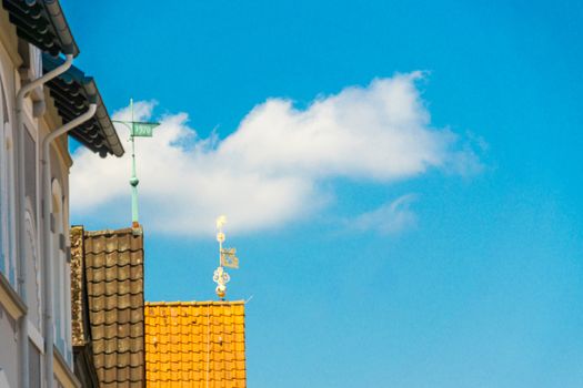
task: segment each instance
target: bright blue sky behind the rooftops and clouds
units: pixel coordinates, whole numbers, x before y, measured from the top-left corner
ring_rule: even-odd
[[[350,153],[313,164],[308,159],[302,174],[285,170],[298,166],[293,163],[268,173],[258,167],[270,180],[291,174],[306,188],[292,196],[300,204],[290,202],[301,211],[298,216],[275,207],[277,218],[255,219],[251,227],[254,218],[241,216],[238,224],[235,216],[227,226],[241,258],[229,297],[252,297],[250,387],[583,385],[581,3],[101,1],[89,9],[63,1],[63,7],[81,48],[77,64],[96,76],[110,113],[133,96],[144,102],[144,116],[168,123],[159,137],[138,144],[143,165],[149,156],[140,147],[155,151],[151,144],[174,129],[174,135],[195,130],[199,137],[170,136],[170,143],[205,147],[199,151],[202,161],[189,160],[194,164],[184,169],[233,166],[221,147],[223,154],[260,154],[253,144],[241,146],[243,134],[275,131],[280,116],[309,121],[314,99],[333,103],[338,96],[352,114],[360,98],[376,103],[374,79],[424,72],[409,84],[420,103],[415,118],[431,118],[415,133],[455,136],[439,149],[438,162],[399,176],[381,171],[390,175],[384,177],[370,169],[353,173],[369,155]],[[362,93],[344,99],[348,86]],[[283,113],[275,119],[261,114],[270,112],[268,99],[293,101],[294,109],[277,111]],[[370,106],[364,108],[356,119],[369,123]],[[241,123],[250,112],[262,125]],[[354,120],[350,114],[346,120]],[[356,133],[375,145],[371,127]],[[284,152],[289,143],[282,143],[273,146]],[[413,137],[409,145],[418,144]],[[469,169],[451,162],[452,155],[469,156],[463,159]],[[89,156],[77,156],[76,169],[96,169]],[[129,170],[127,160],[121,163]],[[331,173],[326,163],[340,170]],[[190,181],[159,166],[140,171],[147,298],[214,298],[213,225],[205,235],[195,217],[192,228],[181,224],[187,208],[182,202],[173,207],[172,193],[191,190]],[[249,171],[235,173],[239,183]],[[154,187],[162,175],[170,186]],[[204,178],[209,175],[195,182]],[[127,193],[127,202],[98,198],[93,213],[73,206],[72,222],[89,228],[129,225],[129,186],[119,180],[98,183]],[[258,192],[272,182],[260,181]],[[247,192],[228,187],[225,198],[244,207],[237,201]],[[205,188],[194,187],[194,208],[204,208],[208,198],[197,195]],[[169,192],[167,203],[161,190]],[[72,187],[73,203],[80,201],[74,193]]]

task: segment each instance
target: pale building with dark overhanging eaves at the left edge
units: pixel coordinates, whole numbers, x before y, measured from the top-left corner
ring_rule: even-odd
[[[94,81],[70,67],[79,50],[59,2],[2,6],[0,388],[79,387],[71,345],[72,161],[67,134],[47,143],[48,154],[43,142],[69,125],[70,135],[101,156],[121,156],[123,149]],[[22,92],[46,74],[54,76]]]

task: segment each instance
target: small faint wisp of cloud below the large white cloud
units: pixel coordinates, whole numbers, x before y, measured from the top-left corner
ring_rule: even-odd
[[[411,203],[415,200],[415,194],[400,196],[372,212],[359,215],[349,222],[349,227],[380,234],[394,234],[413,227],[418,223],[418,217],[411,210]]]

